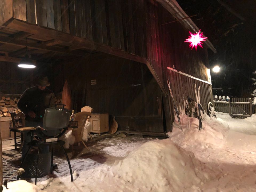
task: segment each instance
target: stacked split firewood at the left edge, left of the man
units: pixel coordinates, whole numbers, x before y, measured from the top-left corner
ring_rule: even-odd
[[[17,103],[19,99],[10,98],[10,97],[2,97],[0,100],[0,117],[10,117],[11,112],[19,113],[21,110],[18,109]]]

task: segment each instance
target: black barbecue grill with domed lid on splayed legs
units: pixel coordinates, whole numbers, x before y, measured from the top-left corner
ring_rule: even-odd
[[[65,134],[68,127],[78,128],[77,121],[69,121],[70,111],[65,109],[64,106],[55,105],[45,110],[43,117],[43,127],[36,127],[31,131],[34,134],[35,140],[28,143],[29,150],[27,151],[22,163],[21,168],[25,170],[25,173],[17,177],[19,178],[35,178],[35,185],[37,184],[38,177],[44,177],[45,175],[52,173],[53,171],[53,146],[59,145],[67,159],[70,170],[71,182],[73,181],[73,174],[70,165],[69,158],[63,147],[65,141],[59,138]],[[15,121],[15,120],[14,120]],[[31,133],[30,133],[31,134]],[[51,152],[40,153],[40,150],[44,147],[51,146]],[[32,147],[38,147],[38,154],[30,154]],[[29,157],[29,158],[28,158]]]

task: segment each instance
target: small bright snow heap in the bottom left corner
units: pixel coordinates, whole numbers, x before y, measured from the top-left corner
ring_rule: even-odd
[[[8,183],[8,189],[3,187],[3,192],[39,192],[41,191],[36,185],[28,183],[25,180],[13,181]]]

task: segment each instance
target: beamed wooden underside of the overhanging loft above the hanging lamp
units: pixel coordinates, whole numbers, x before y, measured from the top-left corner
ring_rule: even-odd
[[[30,39],[30,41],[27,43],[27,47],[30,49],[29,53],[32,51],[36,52],[35,50],[44,51],[45,55],[40,55],[41,57],[50,57],[54,53],[86,57],[88,53],[100,51],[140,63],[146,63],[146,58],[132,55],[113,47],[101,45],[85,38],[27,23],[19,19],[12,18],[2,26],[3,30],[8,28],[12,29],[13,33],[16,33],[10,34],[9,36],[6,35],[6,37],[0,34],[0,43],[18,47],[26,47],[26,40],[24,40],[24,38]],[[17,55],[18,53],[22,52],[25,53],[25,49],[18,49],[10,55]]]

